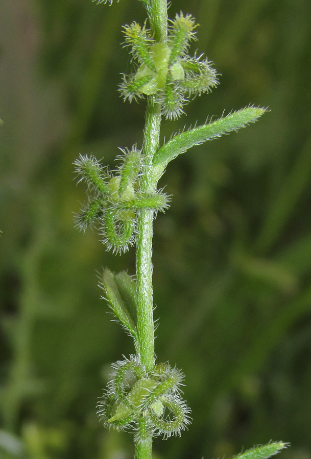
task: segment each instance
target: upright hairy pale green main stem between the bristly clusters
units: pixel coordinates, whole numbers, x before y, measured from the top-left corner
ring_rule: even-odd
[[[164,42],[168,36],[168,6],[166,0],[150,0],[147,7],[151,29],[158,42]],[[154,96],[148,97],[146,124],[143,137],[144,168],[140,177],[140,190],[152,193],[156,183],[151,174],[152,160],[159,148],[161,124],[161,105]],[[154,320],[152,287],[152,236],[153,210],[143,210],[137,221],[136,240],[136,278],[137,278],[137,335],[138,353],[141,363],[147,371],[154,368]],[[152,436],[135,448],[135,459],[151,459]]]

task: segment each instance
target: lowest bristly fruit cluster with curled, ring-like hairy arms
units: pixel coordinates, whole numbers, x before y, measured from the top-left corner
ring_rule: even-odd
[[[181,371],[161,363],[146,372],[133,355],[112,368],[107,390],[98,403],[98,415],[106,427],[132,428],[137,443],[151,436],[180,435],[190,423],[190,409],[181,398]]]

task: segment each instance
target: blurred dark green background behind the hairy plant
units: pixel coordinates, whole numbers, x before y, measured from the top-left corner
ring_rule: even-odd
[[[273,440],[311,458],[311,2],[172,0],[193,14],[193,52],[220,86],[163,121],[162,141],[249,103],[256,124],[170,164],[173,194],[154,234],[156,353],[186,374],[193,423],[155,459],[230,456]],[[134,273],[73,214],[73,161],[113,167],[141,145],[145,102],[117,93],[131,69],[122,25],[136,0],[1,0],[0,457],[129,459],[132,435],[95,414],[110,363],[134,351],[97,287],[102,267]]]

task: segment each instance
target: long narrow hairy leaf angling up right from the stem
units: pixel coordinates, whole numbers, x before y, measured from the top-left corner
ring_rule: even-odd
[[[256,121],[264,113],[265,109],[247,107],[221,117],[216,121],[177,134],[169,142],[165,143],[155,155],[153,164],[156,178],[160,178],[170,161],[187,149],[194,145],[200,145],[207,140],[221,137],[231,131],[236,131],[240,127],[245,127],[248,123]]]

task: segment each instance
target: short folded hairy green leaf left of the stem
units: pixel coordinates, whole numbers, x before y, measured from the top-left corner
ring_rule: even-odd
[[[132,317],[132,308],[133,305],[126,304],[122,298],[122,294],[118,289],[118,285],[122,284],[120,278],[118,278],[117,282],[115,282],[114,274],[109,270],[105,269],[103,274],[103,288],[106,293],[107,300],[110,304],[110,307],[114,313],[114,315],[119,319],[122,325],[129,331],[129,333],[136,338],[136,324]],[[128,284],[128,283],[127,283]],[[123,286],[123,293],[126,289],[125,283]],[[131,296],[132,293],[126,296]],[[129,309],[128,309],[129,308]],[[131,311],[131,312],[130,312]]]

